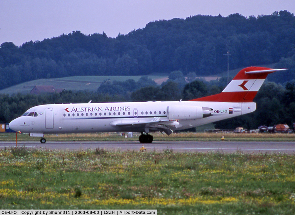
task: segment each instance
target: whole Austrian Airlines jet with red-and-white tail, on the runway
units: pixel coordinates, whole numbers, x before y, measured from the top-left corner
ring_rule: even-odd
[[[31,107],[9,128],[31,137],[53,133],[139,132],[140,143],[152,143],[150,132],[167,135],[256,110],[253,99],[267,75],[286,69],[247,67],[216,95],[189,101],[47,104]],[[145,134],[144,134],[145,133]]]

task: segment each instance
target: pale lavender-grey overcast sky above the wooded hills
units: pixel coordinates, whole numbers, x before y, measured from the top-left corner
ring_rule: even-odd
[[[150,21],[194,15],[295,13],[294,0],[0,0],[0,44],[58,37],[72,31],[108,37],[144,28]]]

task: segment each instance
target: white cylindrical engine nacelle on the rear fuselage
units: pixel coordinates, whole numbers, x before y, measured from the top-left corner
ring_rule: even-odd
[[[175,120],[194,120],[203,118],[203,108],[198,106],[175,105],[167,107],[167,118]]]

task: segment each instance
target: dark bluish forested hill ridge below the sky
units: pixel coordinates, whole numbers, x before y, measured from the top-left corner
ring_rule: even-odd
[[[230,69],[278,63],[277,75],[295,79],[295,16],[288,11],[245,17],[231,14],[153,21],[109,38],[80,31],[43,41],[0,46],[0,89],[21,82],[75,75],[148,75],[153,72],[213,75]]]

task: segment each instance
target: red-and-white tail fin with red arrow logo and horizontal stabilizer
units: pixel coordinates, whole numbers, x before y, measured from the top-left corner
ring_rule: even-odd
[[[267,75],[280,70],[286,69],[247,67],[238,72],[221,93],[193,99],[191,101],[252,102]]]

